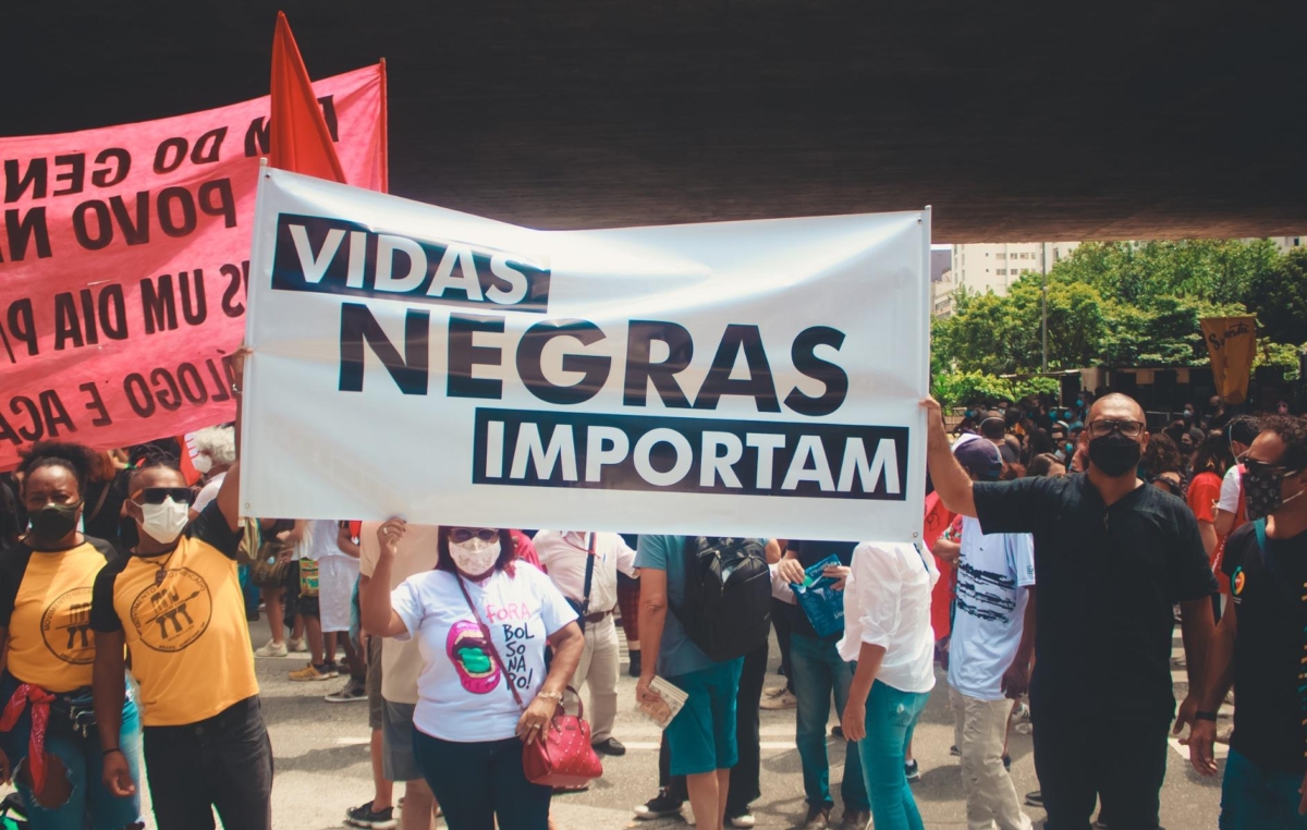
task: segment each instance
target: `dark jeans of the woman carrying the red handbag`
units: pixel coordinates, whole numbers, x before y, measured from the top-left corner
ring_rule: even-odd
[[[443,741],[413,729],[422,778],[450,830],[545,830],[553,788],[532,784],[521,769],[521,741]]]

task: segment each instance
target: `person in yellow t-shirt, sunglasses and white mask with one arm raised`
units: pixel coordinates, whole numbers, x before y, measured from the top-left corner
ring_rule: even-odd
[[[239,350],[231,365],[237,396],[244,356]],[[95,578],[90,625],[99,644],[94,686],[105,784],[115,795],[137,789],[137,775],[114,742],[125,648],[140,685],[159,830],[212,830],[214,808],[233,830],[272,826],[272,746],[237,569],[244,535],[239,465],[193,522],[193,493],[178,469],[137,469],[124,510],[140,539],[131,556]]]

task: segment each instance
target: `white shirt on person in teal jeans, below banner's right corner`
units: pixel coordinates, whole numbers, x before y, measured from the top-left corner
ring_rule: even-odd
[[[863,542],[844,583],[844,639],[839,656],[857,660],[863,643],[882,646],[876,680],[899,691],[935,688],[931,589],[940,579],[935,557],[914,545]]]

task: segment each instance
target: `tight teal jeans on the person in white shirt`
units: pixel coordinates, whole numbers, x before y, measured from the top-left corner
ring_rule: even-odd
[[[899,691],[881,681],[867,695],[867,737],[857,742],[876,830],[924,830],[903,772],[907,745],[929,693]]]

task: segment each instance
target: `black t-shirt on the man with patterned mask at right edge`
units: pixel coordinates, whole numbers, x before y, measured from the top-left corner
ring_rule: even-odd
[[[1307,589],[1307,533],[1266,542],[1287,583],[1302,588],[1289,588],[1266,567],[1253,523],[1230,535],[1221,565],[1230,576],[1239,620],[1234,644],[1239,705],[1230,745],[1257,766],[1302,775],[1307,772],[1307,733],[1298,686],[1303,682],[1299,661],[1307,656],[1307,604],[1291,603],[1289,596]]]

